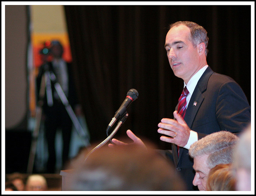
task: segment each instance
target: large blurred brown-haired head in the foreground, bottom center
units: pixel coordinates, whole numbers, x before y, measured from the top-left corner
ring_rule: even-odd
[[[185,190],[167,160],[137,145],[103,146],[76,162],[70,190]]]

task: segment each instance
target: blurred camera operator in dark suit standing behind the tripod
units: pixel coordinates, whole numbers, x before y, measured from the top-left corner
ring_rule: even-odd
[[[77,111],[79,110],[79,104],[76,100],[75,86],[73,81],[73,75],[71,72],[71,64],[65,62],[62,58],[63,46],[59,41],[52,41],[49,49],[50,55],[53,59],[50,62],[43,64],[37,76],[37,97],[40,100],[39,91],[41,90],[41,82],[45,80],[49,81],[45,88],[43,101],[43,117],[44,117],[44,131],[48,145],[48,161],[47,161],[47,172],[55,173],[56,154],[55,154],[55,136],[57,129],[61,129],[63,138],[63,151],[62,151],[62,166],[67,164],[69,149],[70,149],[70,138],[72,131],[72,121],[68,112],[65,109],[65,105],[62,103],[59,94],[55,90],[55,82],[58,82],[62,87],[65,97],[68,99],[70,106]],[[45,75],[49,71],[54,73],[56,78],[51,74],[51,79]],[[46,79],[45,79],[46,77]],[[42,81],[43,80],[43,81]],[[50,93],[48,93],[50,92]]]

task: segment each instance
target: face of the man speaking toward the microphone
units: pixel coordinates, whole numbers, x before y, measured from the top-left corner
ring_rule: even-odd
[[[195,48],[189,39],[190,29],[186,25],[172,27],[165,39],[167,57],[175,76],[187,83],[201,68],[198,47]]]

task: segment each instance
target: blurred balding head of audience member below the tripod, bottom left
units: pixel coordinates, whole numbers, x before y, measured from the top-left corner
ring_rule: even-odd
[[[48,185],[46,178],[40,174],[32,174],[26,181],[27,191],[47,191]]]

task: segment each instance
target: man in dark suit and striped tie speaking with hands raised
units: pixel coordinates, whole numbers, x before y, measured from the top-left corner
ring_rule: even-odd
[[[175,76],[183,79],[188,92],[184,99],[185,116],[178,113],[177,105],[174,119],[162,119],[158,132],[166,135],[160,137],[162,141],[172,143],[172,151],[166,151],[166,155],[174,161],[188,190],[197,190],[192,185],[194,171],[193,160],[188,155],[190,145],[217,131],[239,133],[251,119],[251,108],[241,87],[208,66],[207,45],[207,31],[193,22],[176,22],[170,25],[166,35],[165,49],[170,66]],[[130,130],[127,134],[143,145]],[[116,139],[112,142],[122,143]]]

